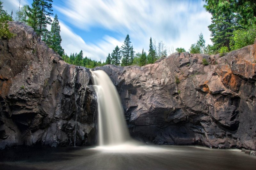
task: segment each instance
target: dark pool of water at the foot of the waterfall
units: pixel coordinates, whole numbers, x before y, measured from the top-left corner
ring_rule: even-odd
[[[256,156],[201,146],[17,147],[0,151],[0,169],[256,169]]]

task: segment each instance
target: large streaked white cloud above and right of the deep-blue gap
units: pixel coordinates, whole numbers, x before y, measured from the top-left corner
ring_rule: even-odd
[[[163,40],[167,46],[183,47],[186,50],[198,39],[202,32],[206,44],[211,44],[211,15],[200,1],[103,1],[103,0],[67,0],[66,7],[55,8],[63,13],[66,21],[80,29],[91,31],[92,27],[102,27],[113,32],[130,35],[133,47],[137,51],[148,50],[149,38]],[[106,45],[102,41],[96,47]],[[117,45],[117,44],[116,44]],[[104,48],[105,57],[113,50]],[[98,55],[99,53],[97,53]],[[96,54],[94,54],[96,55]]]

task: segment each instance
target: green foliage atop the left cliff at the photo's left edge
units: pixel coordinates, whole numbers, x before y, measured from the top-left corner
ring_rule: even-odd
[[[10,39],[14,36],[8,29],[8,22],[12,21],[12,16],[3,10],[2,4],[0,1],[0,38]]]

